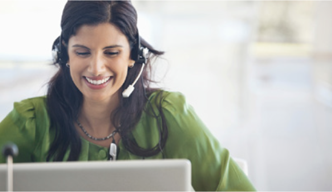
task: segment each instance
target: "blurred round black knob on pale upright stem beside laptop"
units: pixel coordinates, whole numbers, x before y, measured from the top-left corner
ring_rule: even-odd
[[[7,191],[13,191],[13,156],[17,156],[18,149],[14,143],[8,143],[2,150],[7,158]]]

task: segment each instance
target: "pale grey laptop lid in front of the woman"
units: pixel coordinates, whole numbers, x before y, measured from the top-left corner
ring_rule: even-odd
[[[7,164],[0,164],[0,191]],[[190,191],[186,159],[14,163],[14,191]]]

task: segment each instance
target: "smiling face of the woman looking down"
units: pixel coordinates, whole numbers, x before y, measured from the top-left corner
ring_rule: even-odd
[[[84,25],[68,41],[70,76],[85,100],[117,98],[127,77],[130,59],[128,39],[110,23]]]

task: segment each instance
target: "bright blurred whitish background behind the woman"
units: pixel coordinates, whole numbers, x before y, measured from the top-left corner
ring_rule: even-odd
[[[0,1],[0,120],[45,94],[64,1]],[[140,35],[263,191],[332,190],[332,2],[134,1]]]

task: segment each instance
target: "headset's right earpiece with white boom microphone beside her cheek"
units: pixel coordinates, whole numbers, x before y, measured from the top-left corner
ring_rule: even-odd
[[[138,54],[137,54],[137,56],[136,56],[136,54],[135,54],[135,52],[134,52],[134,56],[133,57],[135,57],[135,62],[136,63],[141,63],[142,64],[142,66],[141,66],[141,68],[140,68],[140,71],[139,71],[139,74],[138,74],[138,76],[136,77],[136,79],[135,79],[135,81],[131,84],[131,85],[129,85],[128,87],[127,87],[127,89],[125,89],[123,92],[122,92],[122,97],[124,97],[124,98],[128,98],[129,96],[130,96],[130,94],[133,92],[133,90],[135,89],[135,87],[134,87],[134,85],[136,84],[136,82],[137,82],[137,80],[139,79],[139,77],[141,76],[141,74],[142,74],[142,72],[143,72],[143,69],[144,69],[144,66],[145,66],[145,64],[146,64],[146,62],[147,62],[147,59],[148,59],[148,54],[149,54],[149,50],[148,50],[148,48],[143,48],[143,47],[140,47],[140,38],[139,38],[139,35],[138,35],[138,33],[137,33],[137,36],[138,36],[138,41],[137,41],[137,47],[136,47],[136,49],[137,49],[137,52],[138,52]],[[137,53],[136,52],[136,53]]]

